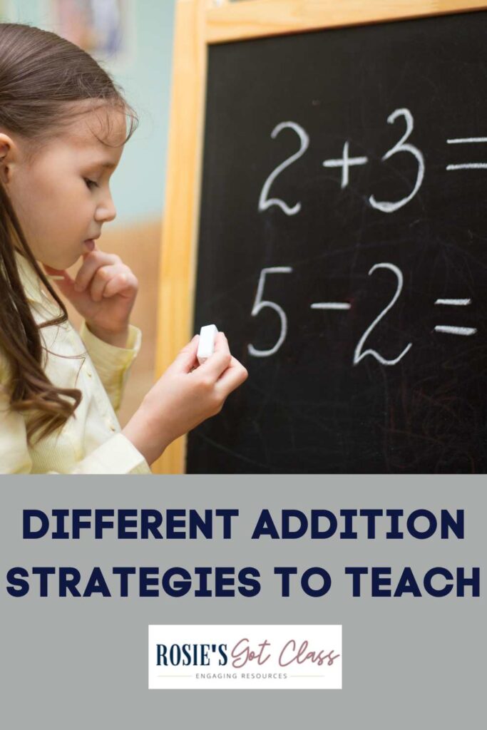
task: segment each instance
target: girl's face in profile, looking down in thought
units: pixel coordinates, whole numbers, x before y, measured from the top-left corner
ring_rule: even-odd
[[[2,181],[32,253],[42,264],[54,269],[72,266],[87,252],[85,242],[98,238],[103,223],[115,218],[109,181],[125,139],[122,112],[91,110],[74,118],[29,164],[21,140],[14,141],[0,129]]]

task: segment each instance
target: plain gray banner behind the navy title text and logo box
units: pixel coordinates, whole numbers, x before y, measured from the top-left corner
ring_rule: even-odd
[[[31,726],[118,728],[193,726],[223,729],[272,724],[294,728],[302,723],[347,729],[360,723],[377,730],[410,726],[469,726],[483,716],[487,650],[486,570],[487,505],[485,477],[465,476],[203,476],[203,477],[2,477],[1,480],[1,685],[2,724],[10,730]],[[237,509],[231,539],[223,539],[215,520],[213,539],[103,539],[84,529],[80,539],[22,539],[22,510],[37,509]],[[356,518],[358,539],[252,540],[261,510],[271,511],[280,529],[283,509],[464,510],[464,539],[440,527],[429,539],[407,534],[386,539],[390,526],[377,518],[376,538],[367,539],[367,521]],[[33,523],[34,524],[34,523]],[[296,527],[296,522],[293,523]],[[324,523],[323,523],[324,525]],[[339,518],[339,528],[343,528]],[[425,529],[426,521],[416,522]],[[164,535],[164,523],[161,532]],[[28,594],[7,593],[7,572],[29,572]],[[261,591],[253,598],[195,598],[193,589],[174,598],[140,598],[130,583],[126,598],[58,597],[58,576],[50,576],[50,595],[39,597],[33,566],[73,566],[80,590],[99,566],[117,588],[112,566],[156,566],[161,572],[182,566],[255,566]],[[321,566],[331,575],[330,591],[307,596],[299,580],[291,595],[280,596],[275,566],[303,572]],[[369,575],[361,597],[352,596],[345,566],[391,567],[391,590],[405,566],[413,570],[421,597],[372,597]],[[433,597],[423,588],[426,572],[442,566],[456,576],[480,569],[480,597]],[[437,579],[434,585],[444,585]],[[211,581],[209,583],[211,585]],[[116,592],[116,591],[114,591]],[[147,626],[172,623],[342,624],[343,688],[333,691],[149,691]]]

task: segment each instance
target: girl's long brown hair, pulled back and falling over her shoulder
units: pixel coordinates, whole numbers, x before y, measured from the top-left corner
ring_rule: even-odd
[[[130,139],[137,128],[137,114],[124,99],[122,88],[91,55],[55,33],[0,23],[0,128],[23,139],[28,159],[80,114],[73,102],[86,100],[93,102],[93,108],[114,107],[128,115],[125,142]],[[58,303],[58,318],[41,325],[35,322],[20,282],[15,250],[26,257]],[[42,369],[39,327],[62,324],[67,316],[31,252],[0,180],[0,351],[9,376],[10,407],[30,416],[28,442],[64,426],[81,401],[79,390],[56,387]]]

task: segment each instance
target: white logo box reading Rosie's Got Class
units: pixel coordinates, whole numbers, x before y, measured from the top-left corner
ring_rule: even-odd
[[[149,689],[341,689],[342,626],[149,626]]]

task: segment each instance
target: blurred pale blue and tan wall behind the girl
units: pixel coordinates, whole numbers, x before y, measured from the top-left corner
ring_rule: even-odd
[[[0,21],[38,26],[84,47],[139,115],[110,184],[117,218],[99,239],[99,247],[118,253],[140,283],[132,321],[142,329],[142,350],[119,413],[122,425],[154,379],[174,15],[175,0],[0,0]],[[68,308],[79,326],[77,312]]]

